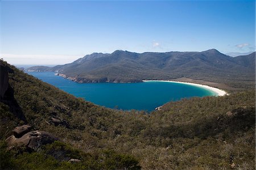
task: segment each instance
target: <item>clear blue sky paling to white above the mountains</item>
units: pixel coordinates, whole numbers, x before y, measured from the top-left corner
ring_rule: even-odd
[[[255,51],[255,1],[1,1],[1,58],[64,64],[93,52]]]

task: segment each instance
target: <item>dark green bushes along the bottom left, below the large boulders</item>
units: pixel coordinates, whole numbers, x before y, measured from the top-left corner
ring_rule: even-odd
[[[117,154],[105,150],[85,154],[63,142],[54,142],[44,146],[38,152],[6,150],[5,142],[0,143],[1,169],[140,169],[138,161],[129,155]],[[68,162],[68,157],[80,162]]]

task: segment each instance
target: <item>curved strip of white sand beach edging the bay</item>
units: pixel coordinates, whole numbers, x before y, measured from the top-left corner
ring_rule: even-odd
[[[203,84],[196,84],[193,82],[183,82],[183,81],[171,81],[171,80],[142,80],[143,82],[149,82],[149,81],[159,81],[159,82],[175,82],[175,83],[180,83],[180,84],[187,84],[187,85],[192,85],[192,86],[197,86],[199,88],[204,88],[207,90],[212,91],[213,93],[216,94],[216,96],[225,96],[228,95],[227,92],[225,92],[224,90],[218,89],[218,88],[213,88],[211,86],[208,85],[203,85]]]

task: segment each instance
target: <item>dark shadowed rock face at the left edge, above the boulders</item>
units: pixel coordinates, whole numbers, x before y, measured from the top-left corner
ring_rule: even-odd
[[[14,90],[9,84],[9,73],[14,73],[13,69],[0,63],[0,101],[9,106],[11,113],[26,122],[22,109],[14,98]]]

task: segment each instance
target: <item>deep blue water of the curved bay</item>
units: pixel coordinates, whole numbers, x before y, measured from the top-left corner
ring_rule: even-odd
[[[181,98],[214,96],[209,90],[173,82],[84,83],[79,84],[53,72],[28,72],[44,82],[97,105],[122,110],[154,110],[168,101]]]

